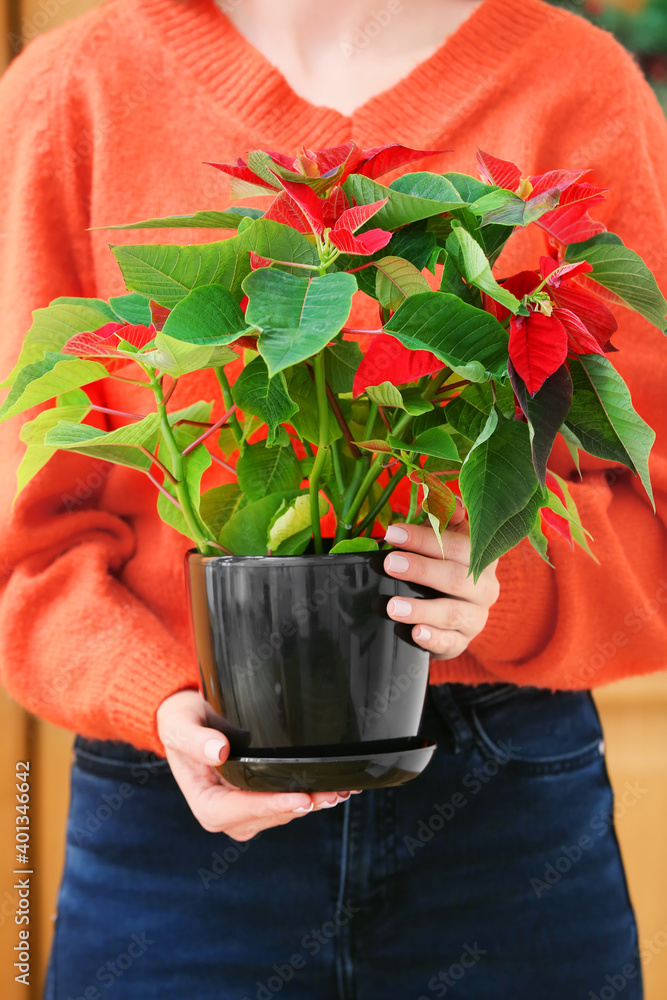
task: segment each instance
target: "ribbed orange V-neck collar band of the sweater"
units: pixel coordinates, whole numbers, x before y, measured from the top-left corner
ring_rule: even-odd
[[[311,104],[231,24],[215,0],[135,0],[152,32],[258,146],[311,148],[354,139],[435,142],[500,85],[516,51],[551,8],[542,0],[483,0],[428,59],[352,115]],[[252,141],[249,145],[252,145]]]

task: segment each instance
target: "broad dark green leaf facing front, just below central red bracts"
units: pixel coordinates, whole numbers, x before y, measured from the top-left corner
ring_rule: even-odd
[[[350,314],[357,283],[342,272],[301,278],[264,267],[248,275],[243,288],[246,320],[261,331],[257,348],[273,376],[312,357],[337,336]]]

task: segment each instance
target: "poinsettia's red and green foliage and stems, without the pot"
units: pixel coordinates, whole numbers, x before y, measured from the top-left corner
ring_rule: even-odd
[[[662,330],[667,303],[641,258],[589,215],[606,192],[586,171],[524,178],[483,152],[479,178],[377,180],[430,155],[351,142],[296,157],[255,150],[213,166],[234,197],[270,198],[265,209],[110,227],[236,234],[113,246],[128,294],[35,312],[0,419],[55,402],[22,428],[19,489],[58,449],[102,458],[149,476],[161,517],[202,553],[269,555],[377,547],[406,482],[401,516],[440,537],[458,490],[475,577],[526,536],[547,558],[545,523],[588,548],[568,483],[549,470],[559,434],[575,461],[583,449],[625,465],[651,497],[654,434],[607,356],[609,305]],[[541,228],[544,253],[499,274],[526,226]],[[350,326],[358,290],[377,302],[372,329]],[[170,404],[177,381],[204,369],[222,400],[215,421],[211,400]],[[84,387],[102,379],[149,387],[154,408],[92,403]],[[100,410],[114,429],[86,422]],[[202,490],[214,461],[234,481]]]

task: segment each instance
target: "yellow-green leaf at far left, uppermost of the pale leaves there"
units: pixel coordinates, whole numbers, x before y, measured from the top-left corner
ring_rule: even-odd
[[[74,334],[99,330],[114,321],[118,316],[101,299],[59,298],[44,309],[35,309],[18,361],[0,388],[13,385],[21,368],[41,361],[47,351],[60,351]]]

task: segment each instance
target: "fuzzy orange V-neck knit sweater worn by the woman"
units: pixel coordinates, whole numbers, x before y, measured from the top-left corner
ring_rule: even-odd
[[[590,166],[613,190],[594,214],[667,289],[660,108],[609,35],[541,0],[485,0],[436,55],[352,117],[297,97],[213,0],[111,0],[28,47],[0,85],[0,123],[2,374],[31,310],[58,295],[123,292],[108,242],[217,235],[89,227],[223,208],[226,181],[203,161],[247,148],[398,140],[453,150],[431,169],[474,173],[475,145],[524,175]],[[542,249],[538,231],[522,234],[498,274],[534,266]],[[585,688],[666,665],[667,344],[635,315],[619,310],[619,320],[613,360],[658,431],[658,516],[630,473],[585,458],[572,490],[601,565],[558,537],[555,571],[527,543],[506,555],[486,629],[463,656],[434,663],[434,681]],[[119,382],[104,393],[121,410],[149,403]],[[193,375],[177,396],[183,406],[214,391]],[[59,725],[160,752],[157,706],[197,684],[188,544],[158,519],[139,473],[76,455],[51,460],[10,512],[18,431],[18,421],[1,428],[3,682]],[[573,475],[566,452],[553,465]]]

